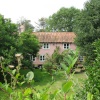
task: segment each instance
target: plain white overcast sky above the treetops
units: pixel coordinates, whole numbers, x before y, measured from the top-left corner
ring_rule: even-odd
[[[61,7],[82,9],[87,0],[0,0],[0,14],[17,22],[21,17],[37,22],[41,17],[48,18]]]

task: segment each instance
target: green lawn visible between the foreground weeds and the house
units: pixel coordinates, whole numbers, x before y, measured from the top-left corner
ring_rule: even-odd
[[[29,72],[29,69],[21,70],[21,75],[26,75],[27,72]],[[79,86],[81,87],[84,83],[84,80],[86,79],[86,74],[84,73],[78,73],[74,74],[71,78],[74,82],[74,90],[78,90]],[[62,87],[62,84],[66,82],[66,77],[64,74],[64,71],[59,71],[56,74],[53,74],[53,77],[47,73],[44,70],[35,69],[34,70],[34,83],[31,85],[32,88],[34,88],[36,91],[41,91],[44,88],[48,88],[48,92],[54,92],[57,89],[60,89]],[[54,83],[52,84],[52,81]],[[52,84],[52,85],[50,85]],[[28,87],[28,84],[24,84],[22,88]],[[21,91],[20,88],[16,89],[17,91]],[[1,99],[3,98],[3,99]],[[6,94],[4,94],[2,91],[0,91],[0,100],[6,100]]]

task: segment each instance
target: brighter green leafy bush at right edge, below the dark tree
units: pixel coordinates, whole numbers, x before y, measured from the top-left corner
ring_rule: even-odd
[[[93,98],[100,99],[100,39],[94,42],[97,55],[92,66],[87,67],[88,80],[86,82],[86,90],[93,94]],[[91,89],[89,89],[91,88]]]

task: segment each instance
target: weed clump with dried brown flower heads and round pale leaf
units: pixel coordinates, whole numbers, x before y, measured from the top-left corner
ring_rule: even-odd
[[[23,58],[21,54],[16,54],[15,57],[18,61],[18,66],[8,65],[8,67],[4,67],[3,60],[4,58],[0,56],[0,67],[1,72],[4,77],[4,83],[0,82],[0,89],[7,94],[7,98],[9,100],[23,100],[29,98],[31,95],[31,88],[25,88],[24,94],[22,91],[16,91],[16,87],[21,87],[24,83],[33,82],[34,73],[32,71],[28,72],[26,74],[26,77],[20,75],[20,68],[21,68],[21,59]],[[10,82],[8,83],[7,75],[11,76]],[[23,81],[20,81],[22,80]],[[31,97],[31,96],[30,96]],[[30,100],[30,99],[28,99]]]

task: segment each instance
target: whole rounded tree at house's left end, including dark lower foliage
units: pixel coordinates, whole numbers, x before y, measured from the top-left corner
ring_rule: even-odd
[[[30,59],[30,57],[36,57],[36,54],[40,49],[37,37],[32,34],[31,31],[27,31],[20,34],[18,41],[18,52],[22,53],[24,57],[22,60],[23,66],[32,68],[33,61],[32,58]]]

